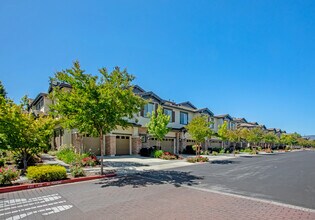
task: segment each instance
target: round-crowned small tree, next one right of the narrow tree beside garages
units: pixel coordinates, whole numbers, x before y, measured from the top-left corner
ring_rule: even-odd
[[[186,125],[191,138],[197,142],[196,155],[199,155],[201,144],[213,134],[210,125],[207,116],[196,116]]]

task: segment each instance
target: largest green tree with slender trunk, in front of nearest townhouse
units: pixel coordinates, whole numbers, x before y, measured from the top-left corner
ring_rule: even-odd
[[[65,128],[77,128],[100,138],[101,173],[103,174],[103,135],[121,126],[129,126],[128,119],[144,106],[144,100],[133,93],[134,76],[115,67],[111,73],[99,69],[100,76],[86,74],[78,61],[71,69],[57,72],[51,81],[67,83],[71,90],[55,86],[50,97],[52,114],[62,119]]]

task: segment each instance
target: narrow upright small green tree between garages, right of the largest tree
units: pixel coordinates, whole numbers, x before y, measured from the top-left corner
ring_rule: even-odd
[[[170,116],[163,114],[163,109],[159,106],[156,113],[152,112],[150,122],[147,124],[148,132],[157,139],[157,146],[159,148],[161,147],[161,141],[163,141],[163,138],[170,130],[167,127],[169,122]]]

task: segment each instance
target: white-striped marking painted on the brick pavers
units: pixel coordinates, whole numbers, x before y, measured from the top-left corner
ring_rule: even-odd
[[[44,219],[73,207],[58,193],[31,198],[1,198],[0,219]]]

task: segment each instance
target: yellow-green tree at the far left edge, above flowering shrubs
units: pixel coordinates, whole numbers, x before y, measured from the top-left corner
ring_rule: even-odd
[[[49,116],[33,114],[0,97],[0,148],[12,151],[23,161],[28,161],[49,146],[54,131],[54,120]]]

